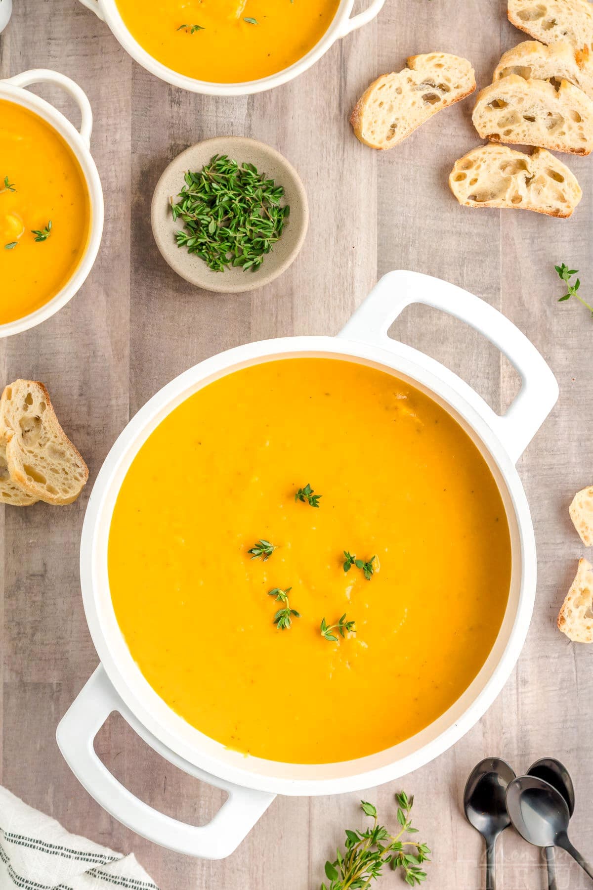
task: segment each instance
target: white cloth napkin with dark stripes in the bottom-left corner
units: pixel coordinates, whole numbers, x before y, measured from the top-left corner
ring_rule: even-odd
[[[0,787],[0,890],[158,890],[131,854],[114,853]]]

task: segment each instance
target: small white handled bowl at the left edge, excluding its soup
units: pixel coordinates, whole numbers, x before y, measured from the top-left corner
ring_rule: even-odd
[[[80,109],[80,132],[70,124],[67,117],[64,117],[58,109],[55,109],[50,102],[40,99],[35,93],[29,93],[25,87],[33,84],[53,84],[60,86],[76,101]],[[92,270],[92,264],[99,253],[100,239],[103,233],[103,192],[100,186],[99,173],[91,155],[91,133],[92,133],[92,109],[91,103],[86,98],[86,94],[81,90],[80,86],[75,84],[73,80],[58,71],[47,69],[33,69],[31,71],[23,71],[15,77],[9,77],[7,80],[0,80],[0,99],[14,102],[22,105],[23,108],[33,111],[39,117],[42,117],[53,130],[55,130],[64,142],[68,142],[68,146],[84,175],[84,182],[89,194],[91,206],[91,228],[89,231],[89,239],[84,251],[84,255],[76,269],[64,285],[60,292],[36,309],[20,319],[7,321],[0,324],[0,337],[11,336],[12,334],[20,334],[28,328],[35,328],[42,321],[51,318],[58,310],[68,303],[76,294],[76,291],[83,286],[84,281]]]

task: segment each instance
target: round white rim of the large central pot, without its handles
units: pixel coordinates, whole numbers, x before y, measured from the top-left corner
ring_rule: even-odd
[[[108,591],[107,542],[116,495],[127,468],[161,420],[196,390],[234,370],[264,360],[306,355],[362,361],[408,381],[451,414],[484,455],[509,522],[512,576],[509,603],[493,648],[478,675],[451,708],[424,730],[392,748],[334,764],[293,765],[245,757],[176,715],[140,673],[117,625]],[[87,507],[81,541],[81,587],[86,619],[109,680],[127,708],[165,748],[221,780],[284,795],[334,794],[370,788],[412,772],[461,738],[501,692],[525,642],[535,596],[533,526],[517,470],[501,440],[460,387],[393,342],[388,350],[338,337],[302,336],[245,344],[204,360],[157,392],[124,429],[100,470]],[[427,360],[429,362],[431,360]],[[466,384],[463,384],[466,385]]]

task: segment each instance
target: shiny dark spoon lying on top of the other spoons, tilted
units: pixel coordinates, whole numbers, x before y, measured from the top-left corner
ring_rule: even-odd
[[[514,779],[507,789],[507,809],[514,827],[528,843],[561,846],[593,878],[593,868],[568,839],[570,812],[553,785],[536,776]]]

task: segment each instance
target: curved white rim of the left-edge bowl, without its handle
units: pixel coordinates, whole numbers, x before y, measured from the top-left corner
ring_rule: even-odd
[[[48,71],[47,73],[59,75],[59,72]],[[59,77],[62,76],[59,75]],[[48,82],[51,81],[48,80]],[[80,89],[80,87],[77,88]],[[51,102],[42,99],[36,93],[31,93],[25,86],[15,86],[7,80],[0,80],[0,99],[12,101],[33,111],[51,125],[52,129],[68,143],[83,172],[84,182],[89,194],[91,212],[91,223],[84,254],[64,287],[51,300],[44,303],[43,306],[39,306],[35,312],[29,312],[28,315],[24,315],[20,319],[0,324],[0,337],[6,337],[20,334],[29,328],[35,328],[36,325],[50,319],[56,312],[60,312],[60,309],[80,290],[89,272],[92,270],[92,266],[99,253],[105,208],[99,171],[92,158],[91,149],[83,136],[78,133],[76,127],[69,122],[68,118],[56,109]]]

